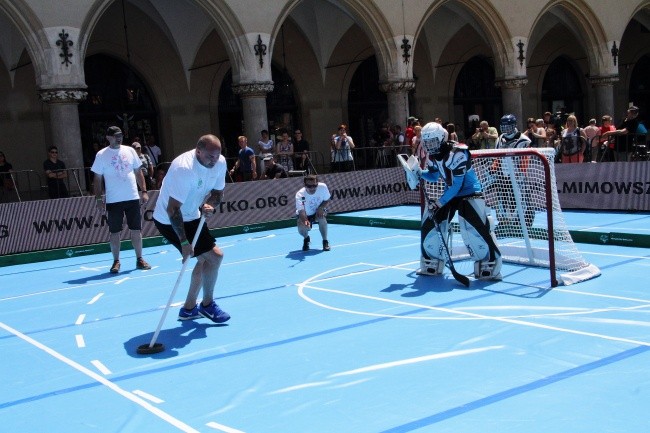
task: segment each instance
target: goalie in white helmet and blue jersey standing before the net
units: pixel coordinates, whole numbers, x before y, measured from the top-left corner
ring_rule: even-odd
[[[449,141],[441,124],[427,123],[422,128],[421,145],[428,157],[423,170],[410,157],[403,161],[411,189],[417,180],[445,182],[445,191],[437,199],[424,191],[425,206],[421,223],[421,258],[419,273],[442,274],[447,257],[446,242],[450,221],[458,211],[460,233],[474,260],[474,276],[478,279],[501,279],[501,253],[494,238],[491,218],[486,210],[481,184],[472,168],[472,159],[466,145]],[[436,225],[438,227],[436,227]]]

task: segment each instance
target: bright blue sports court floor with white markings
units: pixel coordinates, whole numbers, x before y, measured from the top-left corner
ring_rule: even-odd
[[[221,325],[176,320],[190,263],[108,273],[109,253],[7,266],[0,276],[6,432],[647,433],[650,252],[580,243],[602,275],[551,288],[505,264],[469,289],[418,276],[418,220],[401,206],[330,224],[332,250],[295,228],[217,239]],[[647,236],[650,215],[565,212],[572,231]],[[575,236],[576,238],[579,236]]]

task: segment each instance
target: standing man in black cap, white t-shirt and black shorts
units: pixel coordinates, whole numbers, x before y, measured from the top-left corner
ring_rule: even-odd
[[[94,173],[94,192],[97,209],[108,217],[109,243],[113,254],[110,272],[120,271],[120,233],[124,217],[130,230],[135,250],[136,269],[151,269],[142,258],[142,213],[140,203],[149,201],[147,184],[140,166],[140,158],[131,146],[123,146],[124,135],[117,126],[106,131],[108,147],[97,152],[90,170]],[[105,184],[105,187],[104,187]],[[104,191],[105,189],[105,195]]]

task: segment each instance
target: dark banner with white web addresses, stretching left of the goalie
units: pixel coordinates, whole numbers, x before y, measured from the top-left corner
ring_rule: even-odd
[[[394,206],[405,202],[408,186],[401,168],[356,171],[319,176],[332,194],[330,213]],[[295,194],[302,177],[229,183],[209,228],[255,225],[295,216]],[[158,236],[152,214],[158,197],[149,194],[143,206],[144,237]],[[125,226],[122,239],[129,239]],[[0,255],[42,251],[108,242],[106,215],[94,196],[15,202],[0,205]]]

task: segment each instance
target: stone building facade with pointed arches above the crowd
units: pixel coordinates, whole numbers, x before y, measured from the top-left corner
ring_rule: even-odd
[[[581,124],[650,100],[646,0],[0,0],[0,150],[89,166],[106,126],[164,160],[207,132],[301,128],[329,163],[347,123],[541,117]]]

